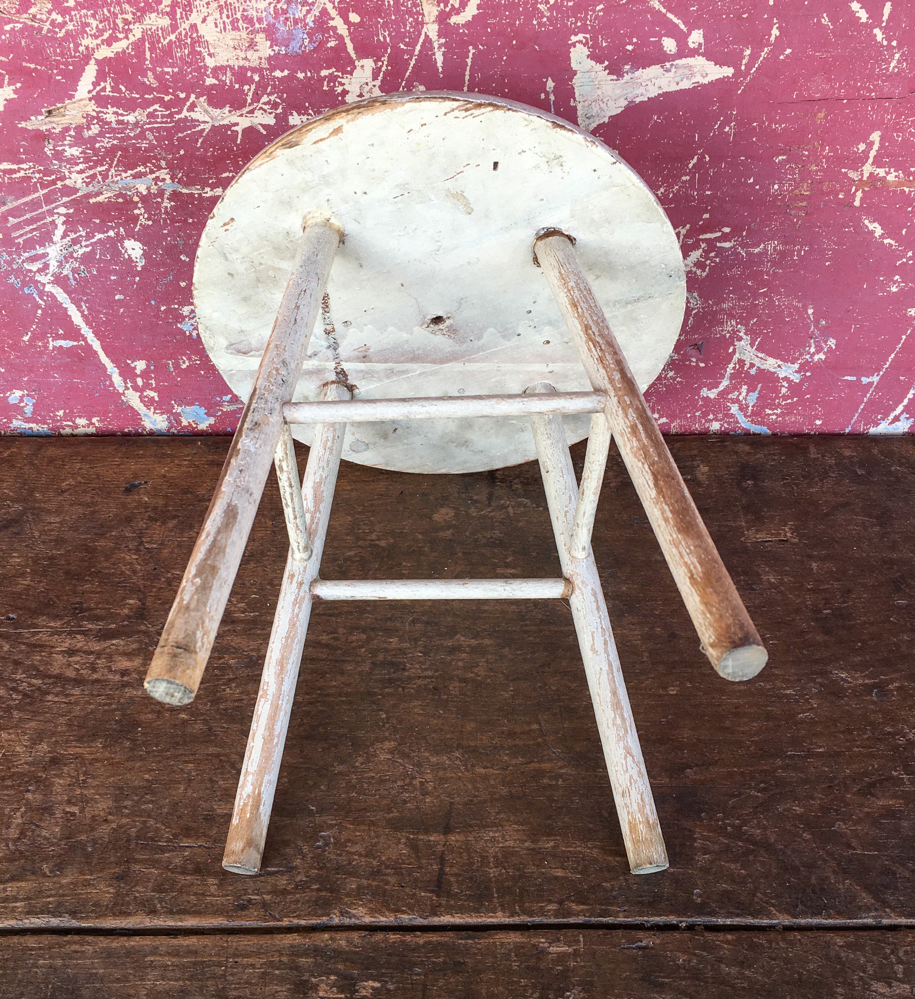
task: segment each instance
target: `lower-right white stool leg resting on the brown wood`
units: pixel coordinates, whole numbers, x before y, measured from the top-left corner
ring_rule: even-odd
[[[527,391],[555,392],[546,383]],[[590,544],[583,557],[570,550],[578,487],[562,417],[533,417],[531,426],[630,869],[651,874],[668,866],[668,853],[594,554]]]

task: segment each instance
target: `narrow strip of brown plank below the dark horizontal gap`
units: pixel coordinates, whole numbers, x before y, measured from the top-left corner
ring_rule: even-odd
[[[0,999],[910,999],[915,934],[566,930],[11,937]]]

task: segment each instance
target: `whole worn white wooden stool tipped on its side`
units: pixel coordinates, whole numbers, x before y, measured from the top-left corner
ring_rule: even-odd
[[[676,235],[638,175],[593,136],[510,101],[352,104],[232,182],[201,240],[195,303],[247,403],[146,679],[167,704],[194,699],[273,462],[289,554],[227,870],[260,867],[315,597],[567,598],[630,866],[668,866],[591,549],[612,434],[714,668],[742,680],[766,660],[642,396],[685,295]],[[293,436],[311,448],[300,485]],[[578,485],[569,444],[586,436]],[[321,579],[344,455],[426,473],[536,457],[562,578]]]

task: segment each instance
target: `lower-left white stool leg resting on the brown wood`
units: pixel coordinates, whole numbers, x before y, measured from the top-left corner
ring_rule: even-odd
[[[332,385],[324,398],[349,399],[349,393],[341,385]],[[311,615],[311,582],[320,568],[345,429],[345,424],[318,424],[314,429],[301,486],[310,554],[307,558],[296,557],[290,547],[276,601],[223,856],[223,866],[236,874],[256,874],[260,869]]]

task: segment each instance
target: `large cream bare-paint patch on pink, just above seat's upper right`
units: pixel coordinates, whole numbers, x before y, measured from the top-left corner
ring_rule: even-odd
[[[730,66],[717,66],[704,56],[688,56],[643,69],[627,68],[621,76],[612,76],[606,64],[591,59],[581,42],[573,46],[570,55],[572,68],[576,71],[572,84],[579,125],[589,130],[632,104],[733,75]]]

